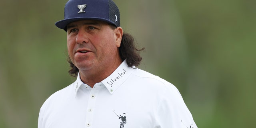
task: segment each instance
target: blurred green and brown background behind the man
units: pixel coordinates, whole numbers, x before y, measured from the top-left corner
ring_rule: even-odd
[[[198,128],[255,127],[255,0],[114,0],[139,68],[174,84]],[[36,128],[51,94],[71,84],[66,0],[0,1],[0,128]]]

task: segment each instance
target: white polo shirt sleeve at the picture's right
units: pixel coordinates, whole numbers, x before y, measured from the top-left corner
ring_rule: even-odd
[[[197,128],[178,89],[168,86],[156,110],[156,128]]]

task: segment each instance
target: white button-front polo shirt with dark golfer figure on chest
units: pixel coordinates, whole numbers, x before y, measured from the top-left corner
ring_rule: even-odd
[[[79,77],[42,105],[38,128],[197,128],[177,88],[124,61],[93,88]]]

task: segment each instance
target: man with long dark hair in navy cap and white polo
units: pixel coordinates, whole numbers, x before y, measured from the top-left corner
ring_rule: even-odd
[[[129,118],[125,128],[197,128],[175,86],[136,68],[140,50],[112,0],[69,0],[56,26],[77,80],[44,102],[38,128],[118,128],[116,112]]]

